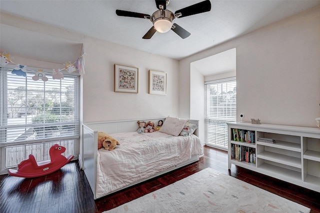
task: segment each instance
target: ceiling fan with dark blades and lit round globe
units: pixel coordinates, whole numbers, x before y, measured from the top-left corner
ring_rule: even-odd
[[[153,26],[147,31],[147,33],[145,33],[145,35],[142,37],[143,39],[150,39],[156,31],[164,33],[169,31],[170,29],[184,39],[188,37],[190,33],[174,23],[174,19],[207,12],[211,9],[210,0],[204,0],[199,3],[176,10],[173,13],[170,10],[166,9],[166,6],[169,4],[169,2],[170,0],[155,0],[155,4],[158,10],[153,12],[151,16],[144,13],[131,12],[120,9],[116,9],[115,13],[119,16],[149,19],[152,22]]]

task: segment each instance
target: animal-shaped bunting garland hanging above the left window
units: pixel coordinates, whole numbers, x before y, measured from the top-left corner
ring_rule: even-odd
[[[64,68],[63,69],[53,69],[53,73],[52,73],[52,79],[63,79],[64,76],[62,74],[62,70],[66,70],[68,73],[72,73],[77,71],[78,74],[83,73],[84,74],[84,56],[85,53],[83,53],[75,62],[71,63],[70,61],[65,62]],[[13,63],[16,65],[16,67],[14,67],[11,71],[12,74],[16,74],[18,76],[24,76],[26,77],[26,71],[30,70],[30,71],[34,71],[34,76],[32,76],[32,80],[37,81],[39,79],[41,79],[42,81],[47,81],[48,78],[45,77],[45,73],[43,72],[42,69],[38,69],[37,71],[32,70],[32,69],[27,69],[25,68],[26,66],[20,65],[20,64],[16,64],[13,61],[11,61],[10,57],[10,53],[5,53],[3,52],[2,54],[0,53],[0,66],[4,67],[9,63]]]

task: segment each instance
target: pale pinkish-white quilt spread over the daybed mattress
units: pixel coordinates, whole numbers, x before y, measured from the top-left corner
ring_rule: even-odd
[[[195,135],[172,136],[162,132],[110,134],[120,142],[112,151],[97,152],[96,197],[150,177],[202,155],[203,147]]]

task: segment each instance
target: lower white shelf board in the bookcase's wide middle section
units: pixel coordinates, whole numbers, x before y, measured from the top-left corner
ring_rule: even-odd
[[[257,158],[268,160],[268,161],[273,161],[279,164],[284,164],[288,165],[291,167],[296,167],[301,169],[301,159],[300,158],[295,158],[292,156],[287,156],[287,155],[281,155],[277,154],[274,152],[261,152],[256,155]]]

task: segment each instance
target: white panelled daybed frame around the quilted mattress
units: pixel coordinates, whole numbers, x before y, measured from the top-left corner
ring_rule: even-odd
[[[152,118],[152,119],[140,119],[141,121],[152,121],[155,125],[157,125],[159,120],[164,121],[165,118]],[[195,123],[198,125],[198,120],[189,120],[189,123]],[[146,180],[152,179],[154,177],[163,175],[167,172],[173,171],[185,165],[191,164],[199,160],[199,156],[192,156],[189,160],[182,162],[181,164],[175,165],[167,170],[159,172],[153,176],[150,176],[146,179],[142,179],[138,182],[127,185],[123,188],[120,188],[116,191],[113,191],[109,194],[105,194],[100,197],[96,197],[96,184],[97,184],[97,132],[105,132],[108,134],[113,133],[122,133],[122,132],[135,132],[139,128],[137,124],[137,120],[122,120],[122,121],[106,121],[106,122],[94,122],[94,123],[83,123],[82,124],[82,147],[83,147],[83,161],[82,161],[82,169],[84,174],[89,182],[91,191],[93,193],[93,198],[98,199],[100,197],[112,194],[114,192],[123,190],[130,186],[136,185],[138,183],[144,182]],[[198,136],[198,130],[195,130],[193,133]]]

